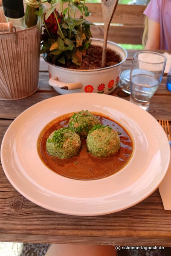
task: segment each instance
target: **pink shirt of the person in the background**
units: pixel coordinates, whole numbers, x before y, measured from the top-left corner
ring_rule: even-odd
[[[171,51],[171,0],[151,0],[144,14],[160,23],[160,49]]]

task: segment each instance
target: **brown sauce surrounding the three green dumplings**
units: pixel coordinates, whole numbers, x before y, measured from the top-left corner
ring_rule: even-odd
[[[101,116],[100,113],[93,114],[103,125],[110,126],[121,133],[119,135],[121,140],[119,151],[113,157],[94,157],[87,152],[86,139],[81,138],[81,151],[77,157],[58,159],[50,156],[46,151],[46,140],[52,131],[68,126],[70,117],[73,115],[73,113],[69,113],[52,120],[52,122],[43,128],[38,138],[39,156],[43,163],[52,171],[73,179],[93,180],[112,175],[121,170],[125,164],[128,163],[133,152],[133,142],[128,132],[112,119]]]

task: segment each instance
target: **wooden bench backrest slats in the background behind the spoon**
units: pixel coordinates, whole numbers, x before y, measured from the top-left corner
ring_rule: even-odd
[[[103,38],[104,26],[100,3],[87,3],[91,15],[88,17],[94,25],[91,27],[93,38]],[[110,24],[108,40],[120,44],[142,44],[144,30],[143,12],[146,6],[118,5]],[[3,12],[3,8],[0,7]],[[2,22],[2,21],[0,21]]]

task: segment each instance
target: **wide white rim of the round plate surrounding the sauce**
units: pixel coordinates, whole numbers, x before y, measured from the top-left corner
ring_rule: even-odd
[[[130,162],[99,180],[58,175],[43,164],[37,151],[38,136],[47,123],[86,109],[121,123],[134,143]],[[9,181],[30,201],[55,212],[91,216],[121,211],[148,197],[167,172],[170,146],[157,120],[133,103],[98,93],[75,93],[46,99],[21,113],[3,138],[1,160]]]

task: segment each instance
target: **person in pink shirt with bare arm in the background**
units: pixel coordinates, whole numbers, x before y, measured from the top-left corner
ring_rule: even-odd
[[[144,14],[148,17],[145,49],[171,51],[171,0],[150,0]]]

